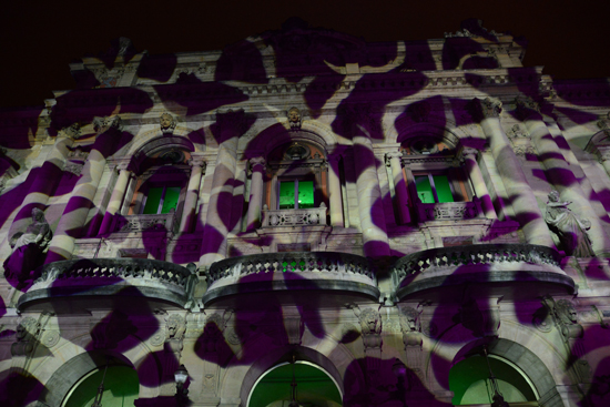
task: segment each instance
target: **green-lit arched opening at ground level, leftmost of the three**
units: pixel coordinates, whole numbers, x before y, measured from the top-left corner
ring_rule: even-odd
[[[105,375],[104,375],[105,370]],[[104,407],[133,406],[140,384],[138,373],[129,366],[96,368],[84,375],[68,393],[62,407],[89,407],[93,404],[103,378],[104,391],[101,405]]]

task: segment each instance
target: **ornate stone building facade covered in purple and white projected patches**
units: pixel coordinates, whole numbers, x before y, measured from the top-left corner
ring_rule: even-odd
[[[291,19],[72,63],[0,112],[2,405],[610,403],[610,85],[523,54]]]

